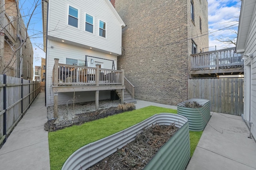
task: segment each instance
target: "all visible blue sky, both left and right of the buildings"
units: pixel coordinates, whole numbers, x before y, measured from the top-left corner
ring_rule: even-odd
[[[42,0],[19,0],[21,13],[24,21],[28,21],[28,14],[32,13],[35,7],[35,2],[38,2],[32,20],[30,21],[28,35],[32,41],[34,49],[34,66],[41,65],[41,57],[45,58],[43,49],[42,37]],[[241,0],[208,0],[208,25],[209,25],[209,51],[235,47],[218,41],[217,39],[230,37],[235,39],[238,30],[238,20],[240,15]],[[233,25],[233,26],[232,26]]]

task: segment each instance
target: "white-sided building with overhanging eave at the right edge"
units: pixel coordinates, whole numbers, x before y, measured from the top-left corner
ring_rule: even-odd
[[[244,115],[256,138],[256,1],[243,0],[240,12],[236,52],[244,53]]]

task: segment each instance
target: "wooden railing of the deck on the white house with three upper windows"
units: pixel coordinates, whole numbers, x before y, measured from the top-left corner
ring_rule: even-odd
[[[110,86],[124,85],[124,70],[109,70],[94,67],[58,63],[54,59],[54,86]]]

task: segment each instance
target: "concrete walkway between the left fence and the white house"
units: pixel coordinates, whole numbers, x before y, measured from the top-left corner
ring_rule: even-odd
[[[40,92],[0,149],[1,170],[50,170],[44,92]]]

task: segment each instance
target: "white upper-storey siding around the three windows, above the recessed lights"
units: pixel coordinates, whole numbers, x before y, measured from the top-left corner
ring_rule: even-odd
[[[91,0],[62,0],[50,1],[48,17],[48,35],[58,39],[66,39],[81,45],[88,45],[94,49],[111,51],[112,53],[122,53],[122,27],[120,21],[109,8],[105,1]],[[78,28],[68,25],[68,6],[78,9]],[[51,10],[54,9],[54,10]],[[81,15],[82,14],[82,15]],[[86,15],[94,17],[94,33],[86,33]],[[66,16],[66,17],[65,17]],[[99,20],[107,23],[106,38],[97,36],[99,33]],[[79,23],[83,24],[79,24]]]

